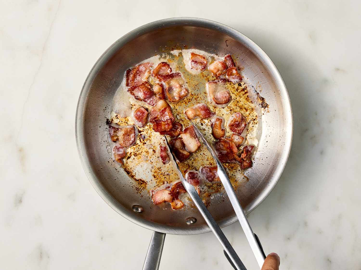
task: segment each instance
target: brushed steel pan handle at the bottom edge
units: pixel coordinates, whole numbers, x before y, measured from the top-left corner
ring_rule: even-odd
[[[158,270],[164,245],[165,233],[153,231],[147,256],[145,257],[143,270]]]

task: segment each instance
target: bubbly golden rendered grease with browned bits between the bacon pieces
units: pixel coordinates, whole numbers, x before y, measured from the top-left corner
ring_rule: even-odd
[[[230,116],[235,112],[241,112],[247,118],[247,128],[244,130],[242,136],[245,138],[243,145],[255,145],[255,151],[257,151],[258,140],[261,137],[261,117],[262,112],[258,104],[257,92],[248,91],[250,86],[247,85],[247,78],[243,78],[245,82],[239,84],[227,83],[227,88],[231,93],[231,101],[225,108],[215,105],[208,99],[208,93],[206,90],[206,82],[216,79],[212,74],[205,70],[203,72],[195,72],[188,65],[190,60],[191,51],[204,55],[208,58],[208,63],[212,63],[213,60],[219,60],[218,55],[209,54],[199,50],[174,50],[170,53],[164,53],[162,55],[156,55],[152,58],[146,59],[143,62],[153,62],[153,68],[160,62],[168,62],[172,68],[172,72],[181,72],[182,76],[186,80],[187,89],[190,94],[181,102],[174,104],[170,103],[173,111],[173,115],[176,121],[181,122],[183,128],[191,125],[190,121],[186,118],[184,110],[197,103],[206,103],[208,107],[216,113],[216,116],[224,118],[224,126],[226,128],[226,136],[230,136],[232,132],[228,128],[228,121]],[[242,70],[242,67],[239,67]],[[154,84],[152,77],[149,77],[149,82]],[[265,101],[264,101],[265,102]],[[122,84],[119,86],[112,103],[112,114],[110,115],[110,121],[119,125],[134,125],[134,121],[131,117],[132,109],[143,106],[147,107],[148,111],[151,108],[150,105],[140,102],[134,99],[128,92],[125,86],[125,78]],[[200,129],[205,135],[206,139],[213,143],[215,140],[212,136],[212,130],[210,127],[211,119],[196,119],[193,123]],[[109,140],[110,141],[110,140]],[[110,141],[113,146],[114,143]],[[123,169],[127,174],[133,178],[137,186],[138,192],[143,189],[153,190],[170,186],[172,183],[179,181],[177,172],[175,171],[173,164],[169,162],[163,165],[160,159],[159,146],[165,145],[164,138],[157,132],[154,132],[152,125],[148,123],[143,128],[138,128],[138,138],[136,144],[127,149],[127,156],[124,158]],[[242,147],[240,148],[242,149]],[[255,161],[257,162],[257,161]],[[202,144],[197,152],[193,153],[186,161],[179,163],[179,167],[185,175],[187,170],[199,170],[201,166],[211,165],[215,166],[214,160],[206,147]],[[119,164],[121,167],[121,165]],[[242,185],[243,181],[248,181],[248,178],[240,170],[237,163],[226,163],[225,167],[228,171],[230,180],[234,188]],[[201,197],[207,203],[212,203],[213,197],[218,197],[217,194],[223,194],[223,186],[220,182],[207,182],[203,181],[200,186]],[[187,195],[185,195],[187,196]],[[183,200],[189,206],[189,199]],[[218,199],[219,201],[219,199]],[[187,203],[188,202],[188,203]]]

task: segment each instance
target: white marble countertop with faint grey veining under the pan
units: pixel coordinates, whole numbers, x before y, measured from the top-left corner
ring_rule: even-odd
[[[157,19],[191,16],[260,45],[291,96],[290,159],[248,216],[265,251],[280,255],[281,269],[360,269],[360,2],[101,2],[1,1],[0,268],[141,269],[152,232],[118,215],[89,183],[75,108],[115,40]],[[257,269],[240,225],[223,231]],[[231,269],[210,233],[167,235],[160,269],[169,264]]]

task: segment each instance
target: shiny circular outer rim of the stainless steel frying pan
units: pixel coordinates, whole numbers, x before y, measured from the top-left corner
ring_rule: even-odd
[[[130,40],[144,35],[145,33],[156,30],[159,28],[169,27],[169,26],[181,26],[181,25],[195,25],[195,26],[202,26],[202,27],[208,27],[217,29],[218,31],[225,32],[227,35],[230,35],[234,37],[235,39],[241,41],[243,44],[248,46],[248,49],[253,51],[253,53],[256,53],[258,57],[264,62],[265,66],[269,69],[272,76],[275,78],[275,82],[279,88],[281,97],[283,98],[284,108],[285,108],[285,115],[288,122],[288,125],[286,126],[286,137],[285,137],[285,143],[284,143],[284,150],[281,154],[281,157],[279,159],[279,163],[277,168],[275,169],[273,175],[271,176],[272,181],[270,181],[270,185],[266,186],[262,196],[260,198],[256,199],[252,206],[250,207],[250,210],[247,214],[255,210],[257,206],[259,206],[271,193],[275,185],[278,183],[278,180],[280,176],[282,175],[284,168],[286,167],[286,163],[288,160],[288,157],[290,155],[291,151],[291,145],[292,145],[292,137],[293,137],[293,115],[292,115],[292,106],[291,106],[291,100],[290,96],[288,94],[286,85],[283,81],[282,76],[280,75],[277,67],[272,62],[272,60],[268,57],[268,55],[251,39],[249,39],[247,36],[243,35],[239,31],[226,26],[225,24],[221,24],[218,22],[210,21],[208,19],[201,19],[201,18],[193,18],[193,17],[176,17],[176,18],[167,18],[167,19],[161,19],[158,21],[154,21],[151,23],[144,24],[143,26],[140,26],[129,33],[123,35],[120,37],[116,42],[114,42],[108,49],[105,50],[105,52],[99,57],[99,59],[96,61],[96,63],[91,68],[84,84],[81,90],[81,93],[79,95],[78,104],[77,104],[77,111],[75,115],[75,139],[77,142],[77,148],[78,148],[78,154],[79,158],[81,160],[82,167],[92,184],[93,188],[96,190],[96,192],[100,195],[100,197],[110,206],[113,208],[114,211],[119,213],[121,216],[125,217],[127,220],[142,226],[143,228],[147,228],[150,230],[155,230],[161,233],[169,233],[169,234],[179,234],[179,235],[189,235],[189,234],[200,234],[200,233],[207,233],[210,232],[210,229],[208,226],[203,226],[201,228],[192,228],[191,226],[187,228],[186,230],[179,227],[173,227],[168,225],[162,225],[162,224],[155,224],[151,221],[145,221],[143,219],[140,219],[136,215],[132,215],[127,213],[127,210],[119,204],[117,201],[115,201],[112,196],[104,189],[103,185],[99,182],[97,179],[95,173],[92,171],[92,168],[90,166],[89,160],[87,158],[87,154],[85,151],[85,141],[84,141],[84,134],[83,134],[83,117],[84,117],[84,110],[86,108],[87,103],[87,94],[90,90],[90,86],[96,77],[97,73],[103,67],[103,65],[109,60],[110,57],[112,57],[113,53],[117,51],[121,46],[125,45]],[[219,222],[219,226],[221,228],[224,228],[228,225],[233,224],[238,219],[236,215],[234,217],[231,217],[230,219],[227,219],[225,221]]]

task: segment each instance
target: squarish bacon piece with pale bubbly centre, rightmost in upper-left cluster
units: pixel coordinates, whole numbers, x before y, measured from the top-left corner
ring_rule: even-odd
[[[165,94],[170,102],[177,103],[188,95],[181,73],[171,73],[163,77]]]

